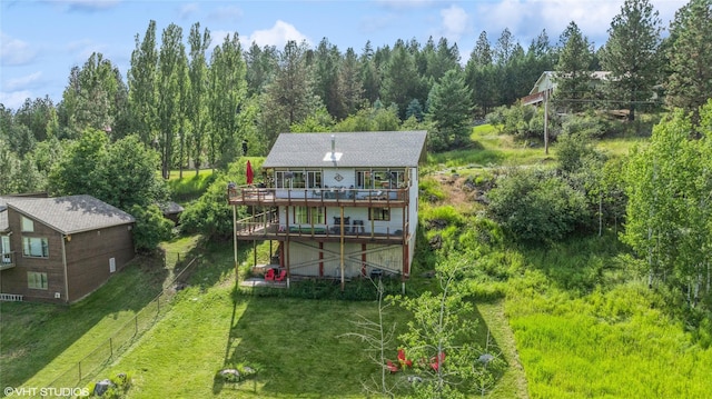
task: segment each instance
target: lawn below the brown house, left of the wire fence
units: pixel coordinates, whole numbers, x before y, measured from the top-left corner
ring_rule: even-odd
[[[138,260],[69,307],[0,302],[0,385],[47,387],[144,309],[166,273]]]

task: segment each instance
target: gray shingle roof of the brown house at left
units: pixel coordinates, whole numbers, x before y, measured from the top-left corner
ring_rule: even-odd
[[[136,221],[132,216],[91,196],[6,198],[9,208],[65,235]]]

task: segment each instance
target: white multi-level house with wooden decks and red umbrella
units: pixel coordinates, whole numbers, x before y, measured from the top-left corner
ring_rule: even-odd
[[[278,242],[294,277],[345,279],[411,272],[425,131],[283,133],[264,183],[229,187],[229,203],[261,209],[235,222],[240,241]]]

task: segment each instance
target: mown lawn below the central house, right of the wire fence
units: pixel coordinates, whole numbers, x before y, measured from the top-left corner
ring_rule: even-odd
[[[343,336],[359,332],[353,323],[358,316],[376,319],[376,302],[237,295],[228,247],[212,246],[211,261],[196,270],[166,317],[102,377],[131,375],[129,398],[363,398],[363,382],[378,378],[380,368],[367,358],[363,342]],[[403,329],[408,316],[396,309],[387,318]],[[510,363],[494,397],[525,397],[503,305],[477,309],[479,343],[490,328],[491,345]],[[216,379],[220,369],[237,365],[259,372],[240,385]],[[395,383],[404,376],[387,378]]]

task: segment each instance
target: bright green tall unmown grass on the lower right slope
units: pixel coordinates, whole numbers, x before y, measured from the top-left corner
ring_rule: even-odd
[[[506,313],[532,398],[709,398],[712,348],[621,257],[613,235],[510,253]]]

